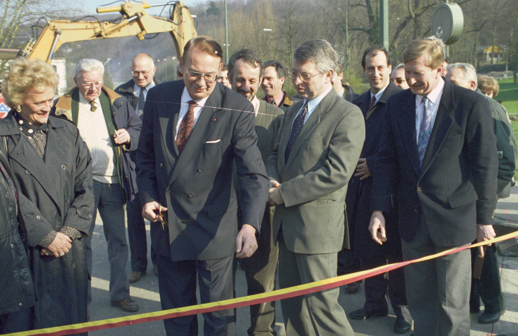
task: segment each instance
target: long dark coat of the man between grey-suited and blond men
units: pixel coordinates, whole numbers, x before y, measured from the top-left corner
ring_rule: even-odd
[[[353,102],[353,104],[358,105],[365,118],[365,142],[363,143],[360,158],[367,160],[367,167],[371,175],[374,174],[374,157],[381,143],[381,135],[383,134],[386,101],[392,94],[400,91],[402,90],[397,85],[389,82],[378,102],[370,109],[370,90],[358,96]],[[371,190],[372,176],[367,177],[367,179],[363,181],[360,181],[359,177],[351,176],[345,203],[350,226],[349,230],[354,232],[352,239],[353,251],[358,258],[371,258],[374,255],[378,255],[381,252],[381,248],[388,246],[387,244],[383,246],[376,244],[376,242],[372,240],[372,237],[370,237],[368,228],[370,215],[372,214],[370,211]],[[394,219],[393,211],[390,211],[390,214],[386,216],[386,221],[389,223],[386,225],[387,228],[394,228],[394,225],[392,225],[392,223],[395,223]],[[397,228],[391,230],[390,234],[391,236],[393,236],[393,234],[397,235]],[[388,242],[395,241],[398,243],[398,238],[399,236],[389,237]]]

